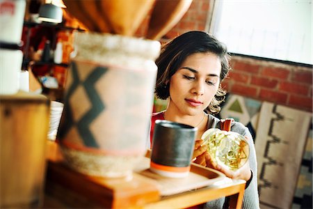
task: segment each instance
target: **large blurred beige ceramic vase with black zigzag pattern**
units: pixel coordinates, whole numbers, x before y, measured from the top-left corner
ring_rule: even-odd
[[[72,169],[129,176],[146,152],[160,43],[75,33],[57,140]]]

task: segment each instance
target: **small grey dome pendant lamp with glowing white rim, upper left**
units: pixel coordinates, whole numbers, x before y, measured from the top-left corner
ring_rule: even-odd
[[[38,20],[42,22],[60,23],[62,22],[63,11],[60,7],[52,3],[45,3],[40,6]]]

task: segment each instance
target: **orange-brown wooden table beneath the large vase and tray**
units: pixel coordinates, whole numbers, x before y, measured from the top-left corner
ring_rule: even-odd
[[[155,183],[140,173],[128,180],[85,176],[56,160],[59,155],[53,155],[48,157],[42,208],[188,208],[223,196],[230,196],[230,208],[242,206],[245,180],[162,196]]]

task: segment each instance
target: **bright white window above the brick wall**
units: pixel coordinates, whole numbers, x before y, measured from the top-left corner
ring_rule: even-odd
[[[311,0],[215,0],[209,31],[235,54],[312,65]]]

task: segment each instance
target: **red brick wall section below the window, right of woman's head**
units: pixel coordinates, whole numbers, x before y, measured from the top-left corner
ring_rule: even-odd
[[[232,56],[231,93],[312,112],[312,68]]]

